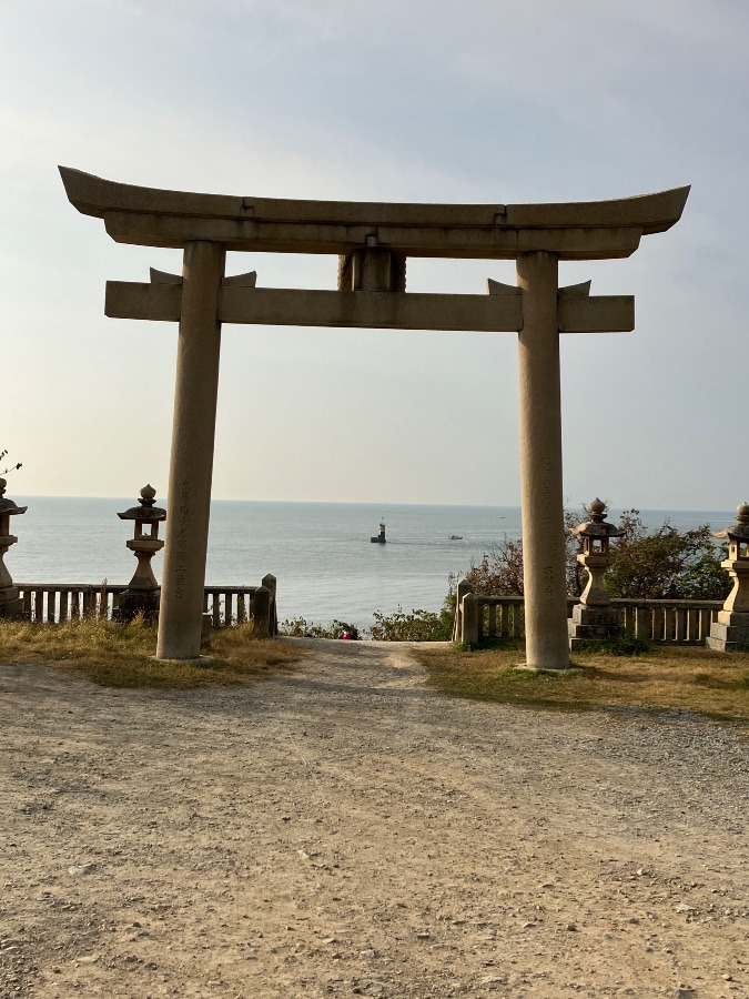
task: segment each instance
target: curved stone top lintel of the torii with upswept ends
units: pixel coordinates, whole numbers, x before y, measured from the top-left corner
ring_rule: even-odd
[[[689,194],[686,186],[610,201],[401,204],[196,194],[68,167],[60,174],[70,202],[103,219],[120,242],[181,246],[208,239],[232,249],[300,253],[364,245],[415,256],[509,259],[534,250],[578,260],[629,255],[641,235],[678,222]]]

